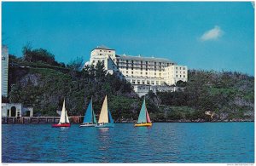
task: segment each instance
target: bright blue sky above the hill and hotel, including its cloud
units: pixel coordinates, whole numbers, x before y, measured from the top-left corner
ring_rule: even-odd
[[[88,61],[105,45],[116,54],[253,76],[254,9],[250,2],[3,2],[2,43],[16,56],[30,43],[66,64]]]

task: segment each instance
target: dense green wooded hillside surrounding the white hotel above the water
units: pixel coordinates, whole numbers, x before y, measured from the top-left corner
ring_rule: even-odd
[[[133,91],[131,84],[115,75],[106,74],[101,63],[86,66],[80,71],[82,60],[67,66],[55,61],[44,49],[23,49],[23,57],[9,56],[9,101],[34,107],[37,115],[56,116],[62,102],[67,101],[69,115],[84,115],[93,99],[99,114],[108,94],[108,106],[115,120],[137,119],[143,98]],[[254,77],[238,72],[189,71],[188,83],[178,82],[175,92],[148,92],[146,103],[154,121],[195,121],[212,119],[253,119]]]

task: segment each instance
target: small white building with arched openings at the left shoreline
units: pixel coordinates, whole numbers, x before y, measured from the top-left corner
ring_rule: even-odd
[[[33,117],[33,107],[21,103],[2,103],[2,117]]]

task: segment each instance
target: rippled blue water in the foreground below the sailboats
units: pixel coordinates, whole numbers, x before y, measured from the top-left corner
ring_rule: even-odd
[[[3,124],[2,163],[254,163],[254,123]]]

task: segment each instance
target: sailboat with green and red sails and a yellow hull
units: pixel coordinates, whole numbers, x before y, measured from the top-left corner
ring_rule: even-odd
[[[137,123],[134,124],[134,127],[149,127],[149,126],[152,126],[152,123],[150,121],[150,117],[148,115],[148,111],[147,111],[147,107],[146,107],[146,104],[145,104],[145,98],[144,98],[144,101],[143,101],[143,106],[142,106],[142,109],[141,109],[141,112],[139,114],[139,117],[137,119]]]

